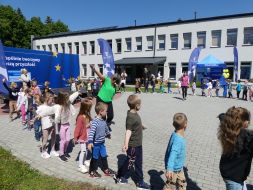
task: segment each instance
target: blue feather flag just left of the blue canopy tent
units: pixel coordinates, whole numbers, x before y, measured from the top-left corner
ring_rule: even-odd
[[[191,53],[189,64],[188,64],[189,81],[192,81],[193,78],[195,77],[195,71],[196,71],[200,51],[201,49],[197,47]]]

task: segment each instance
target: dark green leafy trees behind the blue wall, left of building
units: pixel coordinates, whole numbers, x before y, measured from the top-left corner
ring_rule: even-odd
[[[26,20],[21,9],[0,5],[0,39],[5,46],[30,48],[31,35],[45,36],[67,32],[68,26],[61,21],[53,22],[50,16],[43,23],[40,17]]]

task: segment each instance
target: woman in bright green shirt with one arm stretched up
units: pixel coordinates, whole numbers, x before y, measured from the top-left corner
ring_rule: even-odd
[[[116,94],[116,85],[120,84],[120,77],[118,75],[113,75],[111,78],[105,77],[95,69],[94,65],[90,65],[90,67],[103,82],[97,95],[97,103],[103,102],[108,105],[106,122],[110,124],[114,117],[112,99]]]

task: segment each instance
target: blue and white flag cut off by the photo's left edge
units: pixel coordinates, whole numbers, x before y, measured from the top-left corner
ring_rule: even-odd
[[[8,91],[3,86],[3,79],[8,80],[7,68],[5,64],[4,48],[0,40],[0,92],[7,93]]]

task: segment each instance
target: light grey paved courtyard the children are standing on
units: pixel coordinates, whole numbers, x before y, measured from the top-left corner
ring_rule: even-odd
[[[114,170],[117,170],[118,164],[125,159],[121,147],[128,110],[126,99],[129,94],[124,93],[113,103],[115,125],[112,125],[112,139],[106,141],[106,146],[109,166]],[[172,117],[176,112],[184,112],[188,117],[185,169],[188,189],[225,189],[219,174],[221,149],[217,140],[218,119],[216,117],[233,105],[246,107],[253,113],[253,103],[191,95],[186,101],[182,101],[178,94],[140,94],[139,96],[142,100],[140,115],[143,124],[147,127],[144,130],[143,140],[143,170],[145,181],[151,183],[152,189],[161,189],[165,181],[163,160],[169,136],[173,132]],[[72,121],[72,132],[74,120],[75,118]],[[132,180],[129,180],[129,185],[116,185],[110,177],[91,179],[87,174],[79,173],[76,162],[78,145],[70,147],[71,158],[67,163],[63,163],[58,158],[42,159],[33,131],[22,130],[20,120],[9,122],[7,115],[0,116],[0,146],[11,150],[13,155],[45,174],[72,181],[89,182],[108,189],[136,189]],[[247,183],[253,185],[253,175],[249,176]],[[253,189],[253,186],[248,185],[248,189]]]

